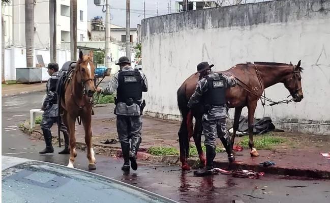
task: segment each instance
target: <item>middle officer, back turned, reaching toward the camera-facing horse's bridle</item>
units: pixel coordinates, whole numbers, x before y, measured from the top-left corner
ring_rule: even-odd
[[[137,169],[136,155],[141,143],[142,119],[140,106],[142,92],[147,92],[148,84],[145,75],[131,67],[131,62],[125,56],[120,57],[120,70],[111,77],[105,89],[97,88],[103,95],[111,95],[117,91],[114,114],[117,115],[117,133],[121,142],[124,165],[123,171]],[[131,139],[131,153],[130,142]]]

